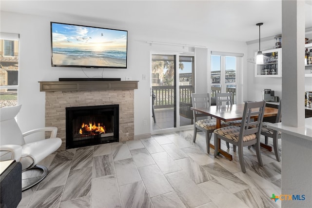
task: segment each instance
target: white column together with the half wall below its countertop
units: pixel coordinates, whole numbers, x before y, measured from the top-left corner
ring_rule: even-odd
[[[301,128],[304,112],[305,1],[282,0],[282,125]],[[301,200],[282,207],[312,207],[312,141],[282,133],[281,193]],[[304,195],[305,200],[303,200]]]

